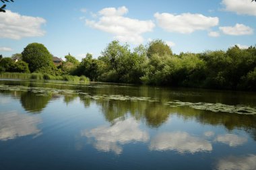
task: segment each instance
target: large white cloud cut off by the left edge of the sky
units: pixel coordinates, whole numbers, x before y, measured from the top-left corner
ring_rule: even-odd
[[[40,29],[46,23],[42,17],[30,17],[7,10],[0,15],[0,38],[20,40],[24,37],[44,36]]]

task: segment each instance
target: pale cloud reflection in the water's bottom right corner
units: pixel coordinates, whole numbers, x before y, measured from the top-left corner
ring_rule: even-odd
[[[253,170],[256,169],[256,155],[247,157],[228,157],[218,161],[218,170]]]

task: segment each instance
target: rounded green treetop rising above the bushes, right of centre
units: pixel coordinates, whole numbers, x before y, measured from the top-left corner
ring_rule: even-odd
[[[162,40],[153,40],[148,47],[148,58],[151,58],[153,54],[158,54],[159,56],[172,55],[172,50],[170,50],[170,47]]]

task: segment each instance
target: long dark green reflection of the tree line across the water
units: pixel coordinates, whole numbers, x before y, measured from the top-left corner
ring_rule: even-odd
[[[253,111],[256,95],[251,93],[224,91],[200,91],[199,93],[194,89],[193,91],[191,89],[170,90],[144,86],[73,85],[57,82],[2,81],[1,83],[3,83],[0,85],[1,93],[10,93],[19,98],[24,109],[32,113],[42,112],[49,101],[56,97],[62,97],[61,99],[67,105],[79,98],[85,108],[90,107],[91,103],[96,103],[104,118],[110,123],[119,118],[132,116],[135,120],[145,121],[150,128],[159,128],[168,121],[170,116],[178,116],[185,121],[195,120],[200,124],[224,126],[228,130],[240,128],[256,140],[256,113]],[[179,104],[170,105],[168,101]],[[192,107],[194,103],[197,104],[197,108]],[[216,112],[209,110],[209,103],[218,103],[210,105],[217,107],[218,110],[214,110]],[[181,104],[183,106],[179,106]],[[231,107],[234,109],[241,108],[243,105],[244,109],[250,110],[251,115],[243,112],[241,114],[225,112],[228,105],[236,105]],[[200,110],[198,110],[199,106]],[[211,134],[205,136],[207,135],[212,136]]]

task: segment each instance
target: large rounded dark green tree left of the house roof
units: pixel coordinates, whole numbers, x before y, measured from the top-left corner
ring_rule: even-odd
[[[43,44],[28,44],[22,52],[22,60],[28,63],[31,72],[55,74],[52,55]]]

